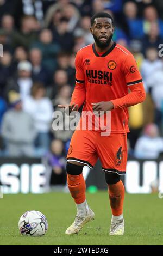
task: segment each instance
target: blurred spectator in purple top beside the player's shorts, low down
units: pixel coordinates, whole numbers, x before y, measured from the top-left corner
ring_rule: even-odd
[[[43,158],[43,163],[51,188],[62,190],[66,185],[66,159],[64,144],[60,139],[52,141],[51,150]]]

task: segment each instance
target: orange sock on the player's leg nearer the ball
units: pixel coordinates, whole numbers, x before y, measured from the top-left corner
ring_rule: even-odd
[[[82,204],[86,197],[85,197],[85,180],[83,178],[83,174],[80,175],[71,175],[67,174],[67,184],[70,190],[71,196],[74,199],[76,204]]]

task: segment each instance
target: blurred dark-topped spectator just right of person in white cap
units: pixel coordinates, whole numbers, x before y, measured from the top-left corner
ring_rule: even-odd
[[[34,82],[41,82],[46,87],[51,82],[51,74],[42,65],[42,52],[39,48],[32,48],[29,52],[29,59],[32,63],[32,79]]]

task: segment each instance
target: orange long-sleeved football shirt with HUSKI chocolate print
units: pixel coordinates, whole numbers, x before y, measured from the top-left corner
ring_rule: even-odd
[[[116,42],[99,55],[95,44],[91,44],[77,52],[75,65],[76,87],[71,103],[79,107],[84,103],[83,111],[92,112],[91,103],[112,101],[111,133],[129,132],[127,107],[145,99],[142,77],[133,55]]]

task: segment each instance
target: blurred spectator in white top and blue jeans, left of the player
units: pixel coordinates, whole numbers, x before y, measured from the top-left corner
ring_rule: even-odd
[[[41,83],[34,83],[31,92],[31,96],[23,102],[23,109],[33,117],[37,131],[35,154],[42,156],[49,149],[53,106],[51,100],[45,97],[45,88]]]

